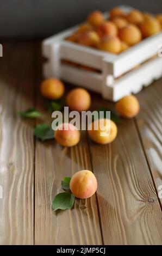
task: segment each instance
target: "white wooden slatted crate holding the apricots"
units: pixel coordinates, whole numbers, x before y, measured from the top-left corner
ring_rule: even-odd
[[[120,8],[126,12],[132,9],[126,6]],[[142,40],[120,54],[112,54],[66,41],[77,27],[43,40],[42,53],[47,58],[47,62],[43,64],[45,78],[57,77],[101,93],[104,99],[117,101],[130,93],[138,93],[143,86],[148,86],[162,76],[162,57],[158,56],[162,32]],[[62,59],[100,72],[79,69],[62,63]]]

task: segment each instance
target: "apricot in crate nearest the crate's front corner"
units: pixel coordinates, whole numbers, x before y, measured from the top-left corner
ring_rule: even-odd
[[[98,45],[99,50],[105,52],[119,53],[121,52],[121,41],[117,36],[104,36]]]

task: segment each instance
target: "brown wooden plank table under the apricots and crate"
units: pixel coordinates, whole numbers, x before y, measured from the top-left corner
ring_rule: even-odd
[[[76,147],[61,148],[33,136],[36,123],[52,120],[39,93],[40,43],[3,43],[0,65],[0,244],[162,244],[162,79],[137,95],[141,111],[118,125],[113,143],[97,145],[83,131]],[[92,101],[92,109],[114,108],[96,94]],[[42,111],[42,120],[15,114],[29,107]],[[82,169],[96,175],[97,193],[53,212],[61,179]]]

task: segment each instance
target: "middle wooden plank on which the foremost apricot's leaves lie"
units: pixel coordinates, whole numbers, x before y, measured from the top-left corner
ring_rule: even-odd
[[[39,47],[36,47],[39,50]],[[38,60],[38,91],[41,82],[40,51]],[[51,115],[43,107],[45,101],[38,95],[37,108],[43,112],[43,121],[51,124]],[[88,144],[84,138],[76,147],[62,148],[55,141],[36,140],[35,149],[35,244],[36,245],[100,245],[101,230],[96,197],[77,200],[74,209],[55,213],[52,200],[60,191],[61,179],[77,170],[92,169]]]

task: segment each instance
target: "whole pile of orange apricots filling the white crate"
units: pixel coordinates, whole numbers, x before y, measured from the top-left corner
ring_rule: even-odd
[[[117,54],[161,29],[162,14],[152,16],[139,10],[124,13],[115,7],[109,12],[109,19],[101,11],[93,11],[67,40]]]

